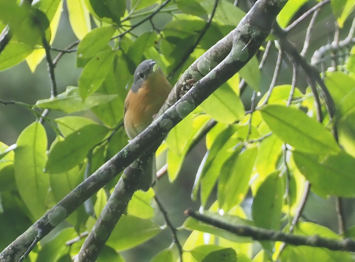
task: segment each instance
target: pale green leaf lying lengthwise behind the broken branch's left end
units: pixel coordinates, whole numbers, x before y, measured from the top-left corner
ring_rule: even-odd
[[[235,215],[229,215],[229,214],[219,215],[217,213],[209,212],[209,211],[204,211],[203,214],[208,215],[209,217],[212,217],[214,219],[218,219],[223,222],[234,224],[234,225],[253,225],[252,221],[242,219],[242,218],[237,217]],[[184,225],[182,225],[182,226],[186,229],[198,230],[201,232],[206,232],[206,233],[217,235],[217,236],[222,236],[225,239],[235,241],[235,242],[241,242],[241,243],[252,242],[251,238],[238,236],[238,235],[233,234],[229,231],[216,228],[216,227],[209,225],[209,224],[205,224],[205,223],[198,221],[192,217],[187,218],[184,222]]]

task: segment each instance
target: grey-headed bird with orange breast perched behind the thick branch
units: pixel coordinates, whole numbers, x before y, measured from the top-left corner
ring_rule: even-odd
[[[124,104],[124,127],[131,140],[152,123],[171,89],[171,84],[157,62],[148,59],[137,66]],[[153,156],[148,160],[138,189],[148,191],[156,176]]]

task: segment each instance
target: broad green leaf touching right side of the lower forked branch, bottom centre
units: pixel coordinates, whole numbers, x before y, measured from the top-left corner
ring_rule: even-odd
[[[115,250],[123,251],[151,239],[161,230],[152,220],[122,215],[106,244]]]

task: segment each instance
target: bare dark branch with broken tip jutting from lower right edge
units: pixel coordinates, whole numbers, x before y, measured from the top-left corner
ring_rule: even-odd
[[[248,236],[253,240],[262,241],[283,241],[295,246],[313,246],[324,247],[329,250],[341,251],[355,251],[355,241],[351,239],[337,240],[330,238],[322,238],[318,235],[304,236],[294,235],[290,233],[283,233],[281,231],[269,230],[264,228],[257,228],[256,226],[246,225],[232,225],[224,221],[208,217],[193,211],[191,208],[187,209],[185,215],[195,218],[198,221],[213,225],[216,228],[224,229],[238,236]]]

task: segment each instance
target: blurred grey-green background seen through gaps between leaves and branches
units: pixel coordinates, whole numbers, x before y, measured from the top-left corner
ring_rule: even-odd
[[[230,2],[233,3],[234,1]],[[316,1],[304,2],[305,4],[300,8],[293,19],[299,17],[303,12],[308,10],[316,3]],[[250,7],[249,2],[247,1],[240,1],[239,5],[240,8],[244,10],[247,10]],[[66,4],[64,4],[63,10],[64,11],[61,15],[58,31],[53,42],[54,47],[60,48],[66,47],[77,39],[69,24]],[[340,39],[344,38],[349,31],[351,26],[350,18],[348,18],[348,20],[345,22],[344,28],[341,31]],[[158,28],[163,28],[169,20],[169,16],[165,14],[157,14],[154,18],[154,23]],[[310,48],[308,51],[308,56],[306,57],[307,61],[310,61],[310,57],[316,49],[322,45],[327,44],[328,36],[333,34],[334,21],[335,18],[332,13],[331,6],[326,5],[323,7],[322,12],[314,24]],[[291,42],[294,42],[299,50],[303,45],[303,39],[308,23],[309,19],[297,26],[297,29],[291,32],[291,34],[288,36]],[[324,24],[328,24],[326,29],[324,29]],[[142,26],[134,29],[133,32],[139,35],[149,29],[149,22],[146,22]],[[75,53],[65,54],[59,61],[58,66],[56,66],[55,72],[58,82],[58,93],[64,92],[67,86],[77,86],[77,80],[80,76],[81,69],[75,67],[75,55]],[[276,59],[277,49],[272,47],[272,51],[267,58],[266,65],[261,71],[261,96],[257,99],[260,99],[269,88],[269,83],[272,79]],[[289,65],[286,62],[283,62],[276,85],[290,83],[291,78],[292,71],[290,70]],[[11,69],[0,72],[0,98],[3,100],[15,100],[28,104],[35,104],[37,100],[49,97],[49,87],[50,81],[48,78],[47,65],[45,60],[39,64],[34,73],[29,70],[25,62],[22,62],[21,64],[18,64]],[[297,87],[299,87],[302,92],[304,92],[305,88],[307,87],[307,83],[300,75],[297,81]],[[241,97],[246,110],[250,108],[251,95],[252,89],[247,88],[246,92]],[[51,118],[57,118],[64,115],[65,114],[58,111],[51,111],[50,113]],[[90,111],[75,113],[74,115],[81,115],[92,118],[96,121],[98,120]],[[1,106],[0,141],[7,145],[16,143],[16,140],[21,131],[33,121],[33,114],[23,107],[18,107],[16,105]],[[55,133],[47,124],[44,124],[44,126],[46,127],[50,144],[55,139]],[[193,181],[195,180],[195,175],[198,169],[198,163],[201,162],[205,152],[206,147],[204,142],[199,143],[198,146],[189,153],[185,160],[184,167],[178,176],[178,179],[174,181],[173,184],[169,183],[167,176],[164,176],[159,180],[157,191],[158,196],[162,200],[174,225],[181,225],[185,221],[185,217],[181,214],[187,207],[195,207],[197,209],[199,206],[198,202],[191,201],[190,195]],[[353,200],[346,200],[344,202],[345,218],[349,225],[353,225],[355,220],[353,204]],[[245,208],[245,211],[249,213],[248,215],[250,216],[251,195],[249,195],[249,197],[247,197],[246,200],[242,203],[242,207]],[[304,215],[307,219],[320,225],[327,226],[335,232],[338,230],[337,213],[335,212],[333,197],[324,199],[311,193],[311,196],[307,201]],[[160,212],[157,212],[157,217],[155,219],[159,224],[164,223]],[[27,221],[26,224],[30,224],[29,221]],[[21,228],[18,233],[22,233],[23,229],[26,228],[27,226],[24,226],[24,228]],[[182,231],[182,233],[179,233],[182,242],[184,242],[183,239],[186,239],[188,235],[189,232],[187,231]],[[45,242],[45,239],[43,241]],[[163,248],[166,248],[168,246],[167,243],[170,242],[170,232],[169,230],[164,230],[155,238],[149,240],[147,243],[142,244],[135,249],[123,252],[123,256],[127,259],[127,261],[144,261],[145,258],[151,258],[154,254]],[[9,243],[2,243],[0,240],[1,247],[5,247],[7,244]]]

